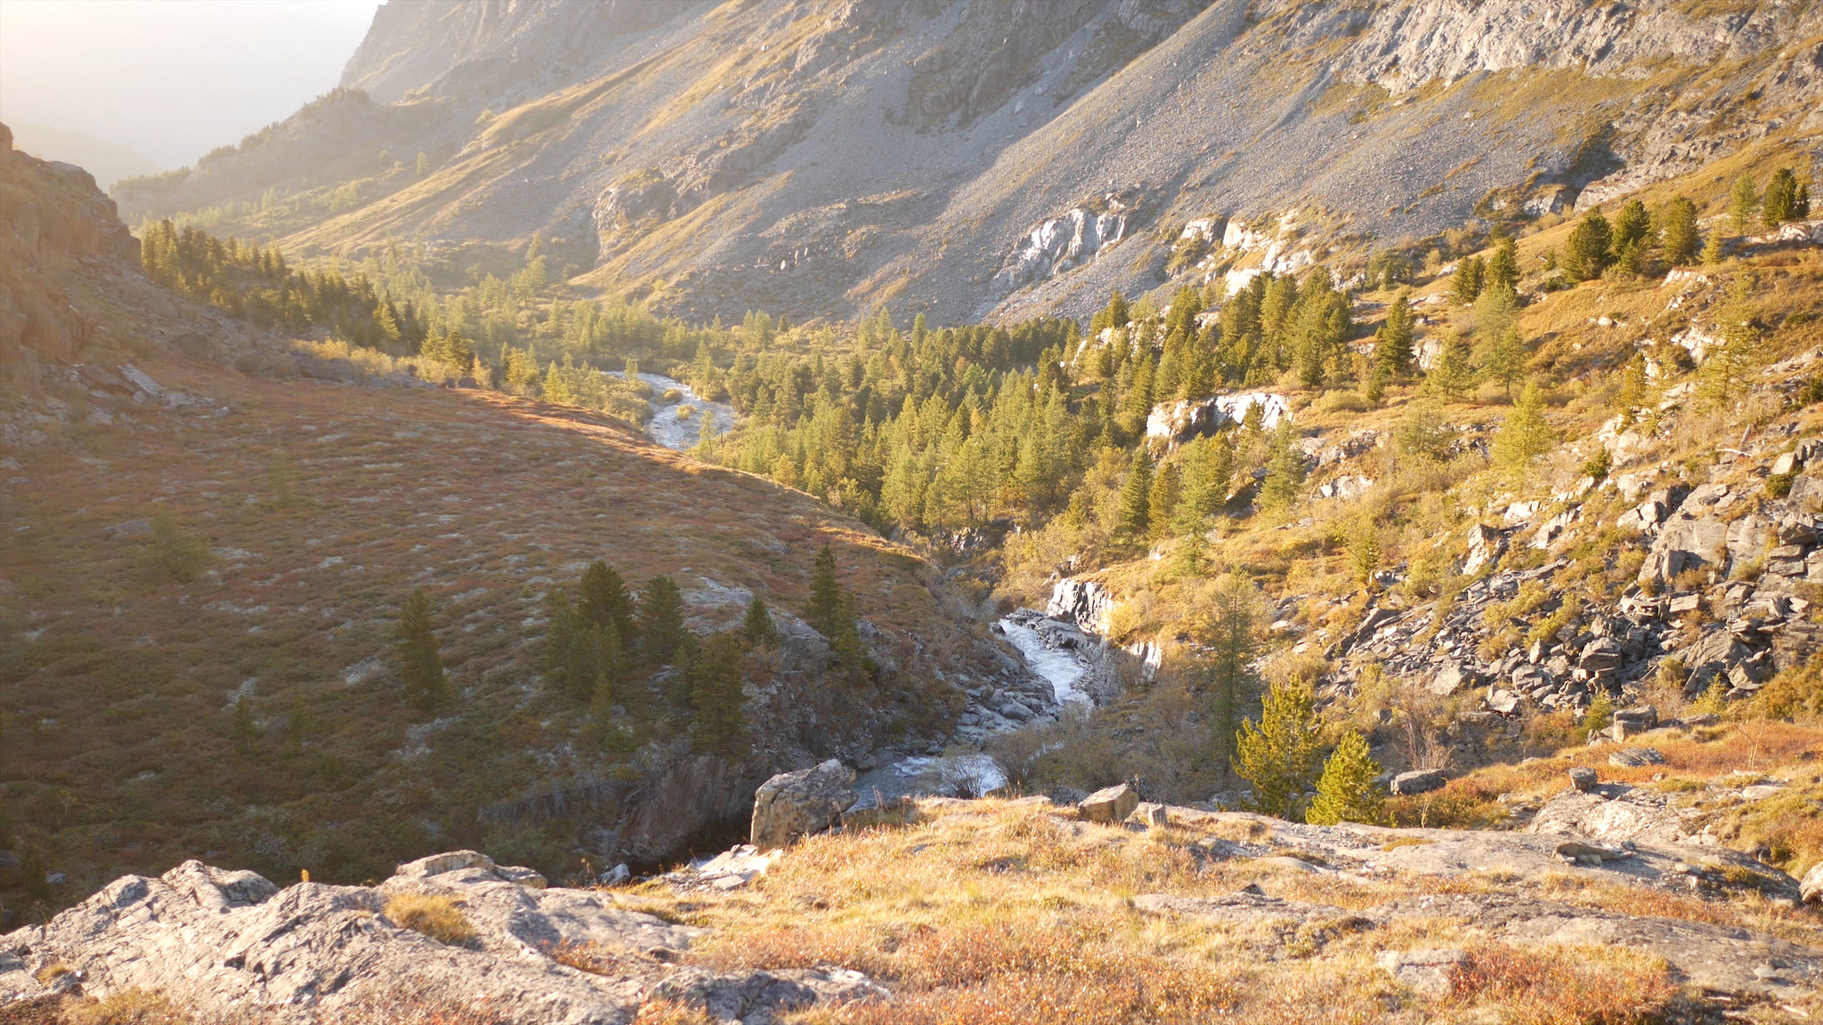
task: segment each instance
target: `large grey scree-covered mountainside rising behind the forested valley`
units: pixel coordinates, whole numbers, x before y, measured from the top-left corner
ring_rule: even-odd
[[[1282,268],[1360,263],[1814,133],[1819,36],[1770,2],[388,4],[341,91],[117,199],[341,255],[540,235],[702,319],[1087,316],[1278,228]]]

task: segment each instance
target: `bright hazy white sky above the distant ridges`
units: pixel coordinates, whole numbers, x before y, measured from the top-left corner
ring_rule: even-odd
[[[0,120],[93,135],[160,168],[190,164],[332,89],[376,7],[0,0]]]

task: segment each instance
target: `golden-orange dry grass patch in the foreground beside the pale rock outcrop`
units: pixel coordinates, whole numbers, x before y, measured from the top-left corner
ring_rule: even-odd
[[[1626,954],[1473,945],[1473,923],[1289,916],[1198,921],[1147,916],[1138,894],[1269,894],[1358,910],[1437,894],[1437,879],[1349,881],[1260,866],[1200,865],[1189,828],[1134,833],[1063,821],[1046,808],[975,801],[924,808],[899,828],[850,830],[793,846],[740,894],[673,896],[711,936],[689,959],[716,970],[839,965],[893,990],[891,1003],[815,1009],[819,1025],[1028,1021],[1380,1021],[1395,998],[1418,1020],[1515,1025],[1648,1021],[1675,996],[1664,965]],[[1509,888],[1455,881],[1464,892]],[[1697,901],[1701,903],[1701,901]],[[1413,994],[1375,965],[1384,948],[1471,947],[1469,983]],[[1528,989],[1522,979],[1533,978]],[[1601,979],[1602,985],[1593,985]]]

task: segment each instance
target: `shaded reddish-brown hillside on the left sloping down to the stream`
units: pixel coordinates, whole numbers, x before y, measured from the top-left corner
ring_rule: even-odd
[[[330,881],[434,835],[552,874],[667,857],[778,768],[941,748],[966,689],[1043,709],[928,564],[802,492],[204,312],[146,279],[77,168],[4,150],[0,199],[7,916],[191,850]],[[800,618],[824,545],[871,658],[840,686]],[[693,744],[682,668],[627,708],[554,691],[547,593],[594,560],[675,580],[698,635],[771,606],[736,751]],[[436,715],[399,691],[414,587],[454,691]]]

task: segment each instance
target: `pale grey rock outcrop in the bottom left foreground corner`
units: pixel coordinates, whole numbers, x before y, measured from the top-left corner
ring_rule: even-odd
[[[390,1020],[401,1001],[428,1001],[527,1025],[622,1025],[669,999],[767,1025],[775,1012],[886,996],[842,968],[678,965],[700,934],[472,850],[401,865],[379,886],[281,890],[253,872],[186,861],[157,879],[120,877],[47,925],[0,937],[0,1009],[153,990],[273,1023]]]

